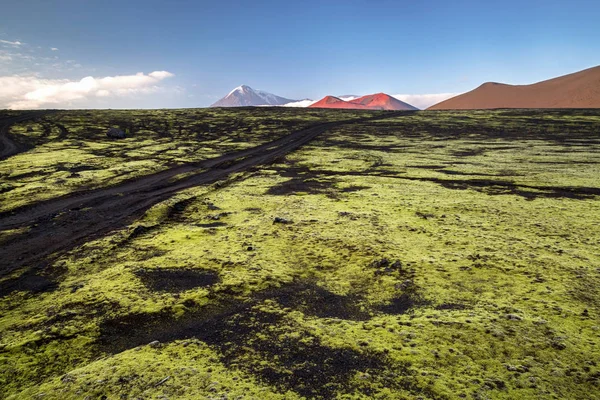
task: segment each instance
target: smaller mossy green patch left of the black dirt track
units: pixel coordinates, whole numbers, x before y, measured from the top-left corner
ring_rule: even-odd
[[[12,112],[15,114],[16,112]],[[1,112],[0,117],[11,116]],[[364,113],[285,108],[61,111],[15,124],[11,137],[31,147],[0,163],[0,212],[75,191],[243,150],[318,122]],[[126,139],[107,137],[118,128]]]

